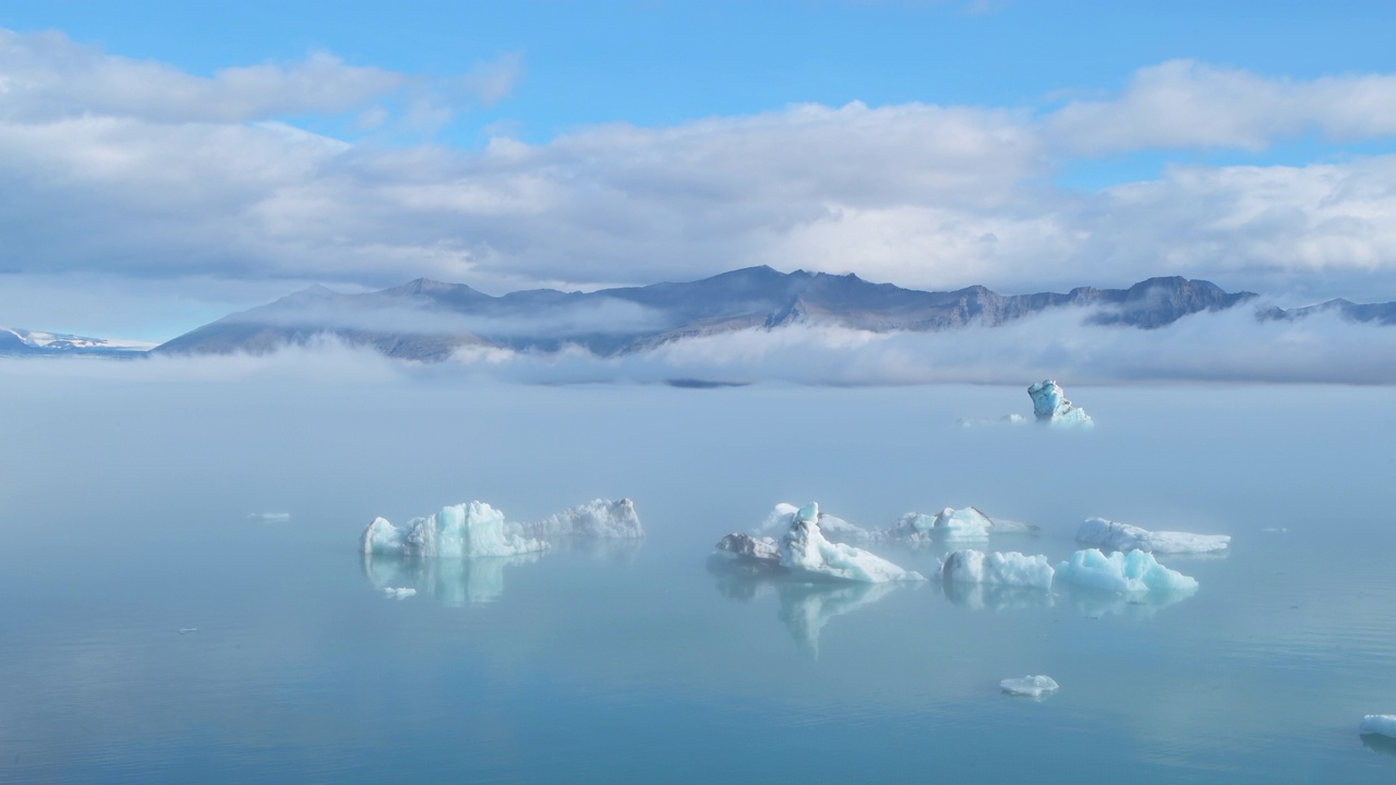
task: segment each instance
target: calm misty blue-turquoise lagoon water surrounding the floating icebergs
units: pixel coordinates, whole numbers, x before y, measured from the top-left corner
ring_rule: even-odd
[[[995,387],[0,376],[0,781],[1393,781],[1357,724],[1396,712],[1396,394],[1068,391],[1094,432],[956,427],[1030,411]],[[649,536],[356,553],[377,514],[597,496]],[[808,500],[867,527],[974,504],[1053,560],[1090,515],[1234,539],[1163,559],[1201,582],[1170,605],[708,567]],[[1026,673],[1061,691],[1000,694]]]

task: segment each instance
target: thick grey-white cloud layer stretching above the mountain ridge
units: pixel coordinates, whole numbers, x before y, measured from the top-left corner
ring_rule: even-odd
[[[431,277],[501,292],[771,264],[919,288],[1181,274],[1396,298],[1396,156],[1051,184],[1100,155],[1386,140],[1396,75],[1291,81],[1168,61],[1118,95],[1048,110],[797,105],[480,151],[346,142],[286,122],[431,126],[507,98],[522,68],[511,56],[427,82],[320,53],[198,77],[0,31],[0,275]]]

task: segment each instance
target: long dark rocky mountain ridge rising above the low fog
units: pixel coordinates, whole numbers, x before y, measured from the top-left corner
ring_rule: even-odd
[[[984,286],[921,292],[857,275],[751,267],[688,284],[490,296],[461,284],[417,279],[364,295],[322,286],[223,317],[155,349],[174,353],[268,352],[334,335],[389,356],[441,360],[462,348],[556,352],[568,345],[614,356],[683,338],[790,324],[937,331],[995,327],[1048,309],[1093,306],[1097,324],[1152,330],[1191,313],[1245,302],[1206,281],[1152,278],[1128,289],[1079,288],[1004,296]]]

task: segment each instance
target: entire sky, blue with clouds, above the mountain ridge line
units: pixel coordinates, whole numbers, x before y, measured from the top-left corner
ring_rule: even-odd
[[[1396,299],[1383,4],[402,6],[0,1],[0,324],[748,264]]]

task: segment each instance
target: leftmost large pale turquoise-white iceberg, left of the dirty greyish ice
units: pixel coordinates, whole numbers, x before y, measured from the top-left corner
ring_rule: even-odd
[[[426,518],[413,518],[406,528],[387,518],[374,518],[364,529],[364,555],[436,559],[518,556],[547,550],[547,542],[525,539],[505,531],[504,514],[483,501],[443,507]]]

